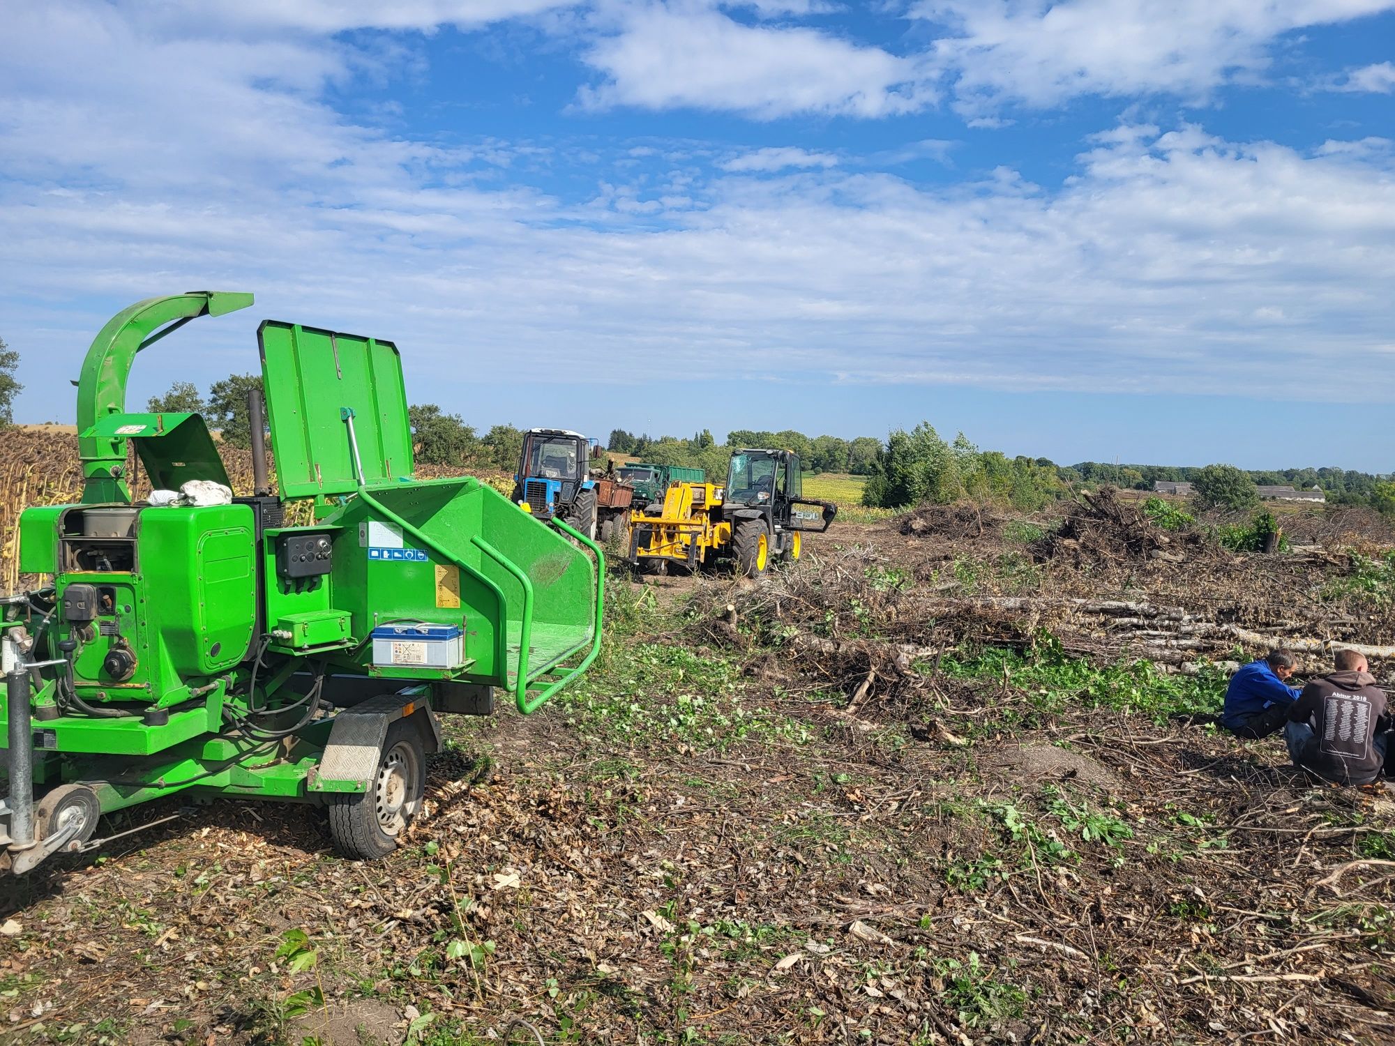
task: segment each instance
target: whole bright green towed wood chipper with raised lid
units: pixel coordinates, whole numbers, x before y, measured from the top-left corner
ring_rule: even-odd
[[[215,485],[198,414],[126,411],[138,351],[251,304],[141,301],[88,351],[82,499],[24,512],[39,587],[0,597],[0,870],[91,849],[102,814],[176,794],[317,803],[343,854],[382,856],[421,806],[438,713],[487,714],[495,690],[534,711],[596,657],[600,549],[474,478],[413,478],[389,342],[261,325],[276,497],[255,393],[244,498]],[[131,467],[190,497],[133,502]],[[294,498],[312,523],[283,523]]]

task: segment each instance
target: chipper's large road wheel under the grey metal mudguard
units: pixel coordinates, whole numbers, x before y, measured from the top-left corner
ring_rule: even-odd
[[[335,795],[329,801],[329,834],[346,858],[385,858],[421,810],[425,791],[425,750],[413,722],[388,727],[378,768],[363,795]]]

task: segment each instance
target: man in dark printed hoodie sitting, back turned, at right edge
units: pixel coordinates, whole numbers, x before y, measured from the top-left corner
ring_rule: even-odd
[[[1285,738],[1295,766],[1332,784],[1371,784],[1385,761],[1391,718],[1366,657],[1336,651],[1336,671],[1303,688]]]

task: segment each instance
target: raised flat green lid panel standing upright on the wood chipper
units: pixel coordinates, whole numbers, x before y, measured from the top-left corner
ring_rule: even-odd
[[[392,342],[268,319],[257,331],[276,477],[283,498],[359,490],[349,427],[364,481],[412,476],[412,428],[402,357]]]

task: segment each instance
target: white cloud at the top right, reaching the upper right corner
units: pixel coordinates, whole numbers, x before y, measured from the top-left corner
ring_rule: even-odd
[[[1253,78],[1282,33],[1395,8],[1395,0],[919,0],[954,33],[933,54],[961,107],[1053,106],[1077,95],[1204,98]]]

